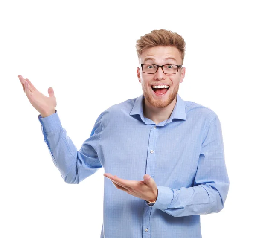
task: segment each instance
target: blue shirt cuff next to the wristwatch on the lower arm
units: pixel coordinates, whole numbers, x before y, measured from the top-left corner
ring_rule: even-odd
[[[165,186],[157,186],[157,189],[158,189],[157,200],[154,203],[154,205],[149,206],[146,201],[145,203],[147,204],[147,206],[152,208],[158,208],[161,210],[168,209],[174,197],[173,190]]]

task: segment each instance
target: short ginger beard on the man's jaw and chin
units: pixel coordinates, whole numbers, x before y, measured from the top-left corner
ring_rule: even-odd
[[[142,86],[142,91],[145,99],[153,107],[164,108],[164,107],[167,107],[169,104],[171,104],[172,101],[176,98],[179,87],[180,87],[180,83],[178,83],[174,88],[172,88],[171,86],[169,87],[168,91],[166,92],[168,93],[167,99],[165,99],[166,96],[159,97],[159,99],[155,99],[155,97],[153,96],[154,91],[151,89],[151,87],[145,86],[143,83],[141,84],[141,86]]]

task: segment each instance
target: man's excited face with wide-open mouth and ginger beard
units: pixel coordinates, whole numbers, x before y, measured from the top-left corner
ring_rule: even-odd
[[[172,57],[173,59],[166,59]],[[148,59],[151,58],[151,59]],[[180,52],[174,46],[154,46],[143,51],[140,64],[177,64],[181,65]],[[151,66],[149,66],[151,68]],[[145,70],[144,70],[145,71]],[[165,74],[161,67],[154,74],[144,73],[142,67],[137,67],[137,76],[142,86],[145,100],[153,107],[167,107],[177,96],[179,85],[185,77],[185,67],[179,68],[176,74]],[[154,89],[152,85],[167,85],[166,89]]]

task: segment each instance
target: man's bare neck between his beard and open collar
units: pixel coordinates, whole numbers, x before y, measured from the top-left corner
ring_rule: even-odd
[[[153,107],[145,98],[143,99],[143,113],[144,117],[151,119],[155,124],[163,122],[172,115],[172,111],[177,102],[177,98],[164,108]]]

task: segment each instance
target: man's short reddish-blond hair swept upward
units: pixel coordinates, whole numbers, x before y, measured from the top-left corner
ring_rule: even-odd
[[[180,57],[182,63],[184,61],[186,43],[181,35],[170,30],[160,29],[153,30],[144,36],[141,36],[139,40],[136,41],[136,52],[138,58],[142,54],[143,50],[154,46],[175,46],[180,52]]]

